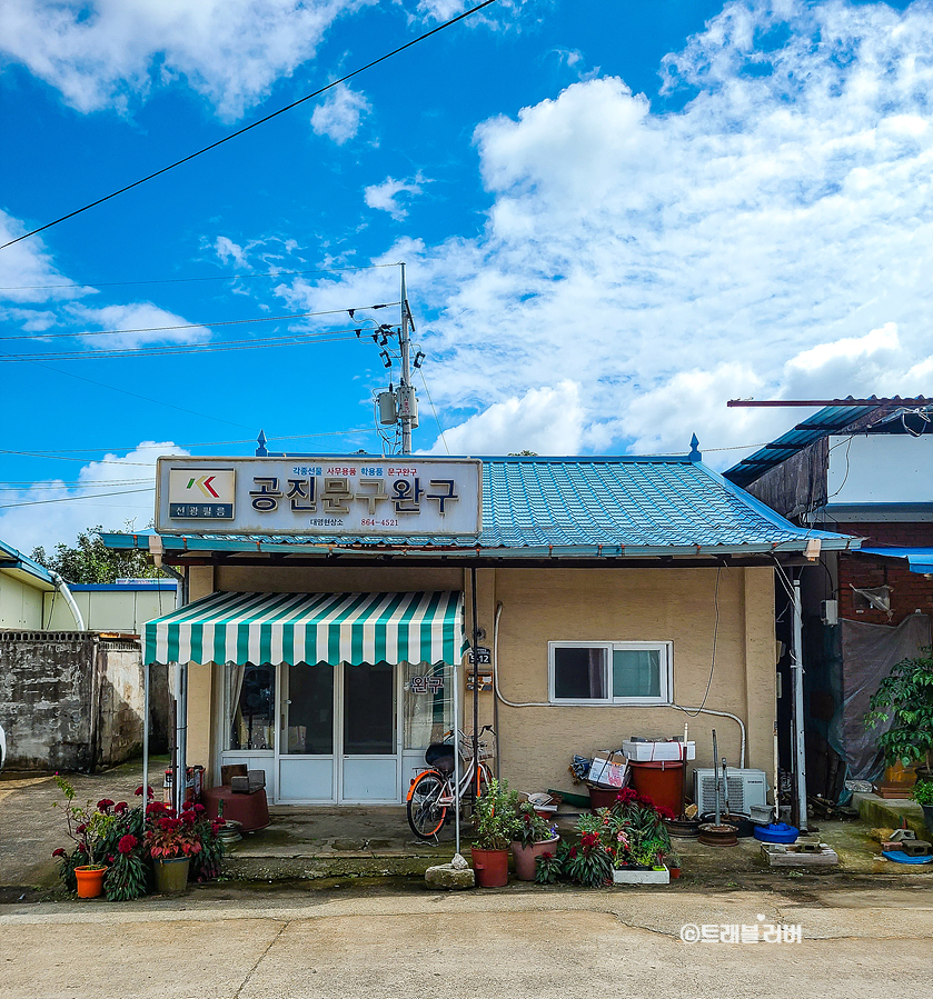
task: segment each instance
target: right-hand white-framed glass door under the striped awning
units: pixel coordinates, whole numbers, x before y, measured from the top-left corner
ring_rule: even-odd
[[[400,790],[398,670],[388,662],[341,667],[340,800],[396,803]]]

